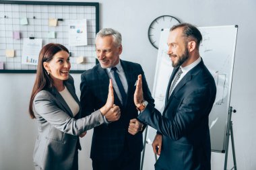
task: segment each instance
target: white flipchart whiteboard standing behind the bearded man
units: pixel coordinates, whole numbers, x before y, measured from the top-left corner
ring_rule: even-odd
[[[212,151],[224,152],[237,26],[199,27],[198,29],[203,36],[199,48],[200,56],[207,69],[212,73],[217,87],[216,100],[209,116]],[[169,29],[164,29],[161,32],[152,91],[156,109],[160,112],[164,110],[166,88],[173,69],[167,54],[168,33]],[[156,130],[151,127],[148,130],[147,143],[152,143]]]

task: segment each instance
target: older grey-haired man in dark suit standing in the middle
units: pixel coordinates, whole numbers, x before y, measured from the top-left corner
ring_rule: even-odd
[[[123,50],[121,40],[121,34],[111,28],[100,30],[96,35],[96,55],[100,64],[81,76],[80,102],[84,116],[106,103],[109,79],[113,81],[115,105],[119,105],[121,110],[120,118],[106,114],[105,124],[94,128],[90,155],[94,170],[139,170],[145,126],[135,119],[138,112],[133,94],[138,75],[142,75],[145,99],[154,105],[141,66],[120,60]],[[134,135],[128,132],[130,121]]]

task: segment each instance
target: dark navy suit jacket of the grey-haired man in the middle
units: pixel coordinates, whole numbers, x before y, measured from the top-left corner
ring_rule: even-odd
[[[119,105],[121,109],[121,118],[110,124],[102,124],[94,128],[92,136],[91,159],[113,160],[117,159],[123,147],[128,146],[132,153],[140,153],[143,149],[142,133],[137,133],[134,136],[129,134],[129,121],[137,118],[138,112],[133,102],[133,95],[136,89],[135,82],[137,76],[142,75],[143,93],[145,99],[154,105],[154,99],[151,96],[146,78],[141,66],[134,62],[120,60],[125,77],[128,83],[127,102],[122,105],[121,101],[115,93],[115,105]],[[102,69],[100,65],[85,71],[81,76],[81,108],[82,116],[91,114],[94,110],[100,109],[105,103],[108,96],[109,78],[106,69]]]

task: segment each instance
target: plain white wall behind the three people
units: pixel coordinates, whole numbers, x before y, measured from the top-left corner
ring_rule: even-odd
[[[97,1],[94,1],[97,2]],[[231,105],[234,142],[238,169],[256,169],[255,96],[253,79],[256,63],[254,0],[98,0],[100,28],[115,28],[123,34],[121,58],[139,62],[150,89],[154,82],[157,50],[148,41],[148,27],[160,15],[174,15],[182,22],[196,26],[238,25]],[[73,75],[79,95],[79,74]],[[28,117],[28,100],[34,83],[34,74],[0,74],[0,169],[33,169],[32,151],[36,138],[36,124]],[[90,142],[92,130],[82,139],[79,153],[80,169],[92,169]],[[154,155],[146,147],[144,169],[154,169]],[[228,169],[232,166],[230,149]],[[212,169],[223,169],[224,155],[212,153]]]

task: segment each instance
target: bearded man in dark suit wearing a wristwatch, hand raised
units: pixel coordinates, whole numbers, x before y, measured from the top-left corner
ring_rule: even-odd
[[[211,169],[208,116],[216,97],[216,85],[199,56],[202,36],[191,24],[170,29],[168,55],[174,70],[161,115],[143,98],[143,79],[138,77],[134,102],[138,119],[158,130],[152,144],[160,155],[155,168],[174,170]]]

